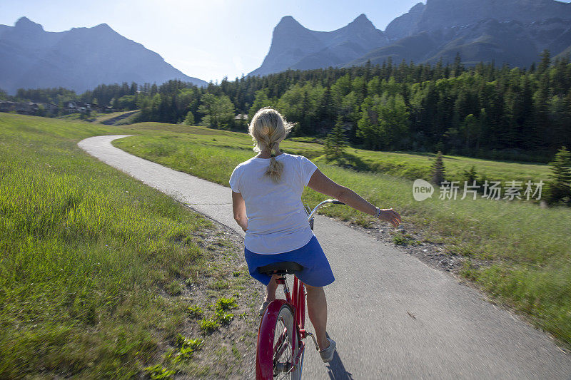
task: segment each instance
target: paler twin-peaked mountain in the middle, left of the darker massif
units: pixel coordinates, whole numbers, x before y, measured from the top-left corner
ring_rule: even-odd
[[[364,14],[335,31],[312,31],[292,16],[285,16],[273,30],[270,51],[262,66],[248,75],[338,66],[386,43],[383,32],[375,29]]]

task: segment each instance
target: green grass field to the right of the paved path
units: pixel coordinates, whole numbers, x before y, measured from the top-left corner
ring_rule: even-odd
[[[153,136],[115,140],[113,145],[176,170],[228,186],[233,168],[251,158],[251,138],[243,133],[183,125],[141,123],[130,125],[133,133],[156,130]],[[376,173],[329,165],[321,145],[285,141],[287,153],[303,154],[338,183],[348,186],[379,207],[394,207],[403,215],[405,227],[423,230],[423,239],[442,242],[448,255],[467,258],[463,275],[473,279],[492,297],[527,314],[537,327],[551,332],[563,344],[571,344],[571,210],[544,209],[531,201],[486,199],[417,202],[412,196],[410,168],[428,173],[430,161],[423,155],[367,152],[348,153],[375,167]],[[383,165],[395,162],[393,175],[380,174]],[[503,163],[445,156],[449,172],[458,173],[475,165],[490,180],[546,179],[545,165]],[[400,166],[399,166],[400,165]],[[410,174],[410,173],[409,173]],[[403,178],[404,177],[404,178]],[[312,205],[325,197],[305,190]],[[368,226],[368,215],[348,207],[331,207],[324,213]]]

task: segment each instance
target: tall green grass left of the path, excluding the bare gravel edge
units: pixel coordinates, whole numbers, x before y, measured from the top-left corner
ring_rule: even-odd
[[[157,296],[203,269],[211,226],[81,151],[86,123],[0,115],[0,378],[126,379],[185,312]]]

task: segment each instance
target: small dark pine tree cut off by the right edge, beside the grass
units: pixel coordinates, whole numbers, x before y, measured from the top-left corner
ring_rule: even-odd
[[[563,146],[549,165],[552,174],[547,184],[547,202],[562,200],[571,204],[571,153]]]

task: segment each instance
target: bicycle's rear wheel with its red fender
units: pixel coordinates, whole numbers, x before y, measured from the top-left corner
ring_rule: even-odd
[[[285,300],[276,299],[268,305],[260,322],[256,379],[299,380],[303,358],[295,369],[291,368],[298,351],[299,337],[293,309]]]

